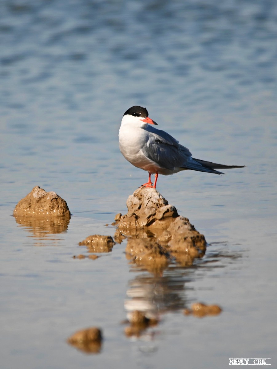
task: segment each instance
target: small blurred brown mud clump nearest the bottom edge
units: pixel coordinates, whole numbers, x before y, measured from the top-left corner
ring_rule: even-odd
[[[101,350],[102,333],[99,328],[91,327],[75,332],[67,342],[86,353],[98,353]]]

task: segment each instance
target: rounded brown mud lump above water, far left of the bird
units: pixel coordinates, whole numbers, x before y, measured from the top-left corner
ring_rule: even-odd
[[[66,201],[55,192],[45,192],[36,186],[24,199],[15,206],[13,215],[16,219],[22,217],[33,218],[70,218],[70,211]]]

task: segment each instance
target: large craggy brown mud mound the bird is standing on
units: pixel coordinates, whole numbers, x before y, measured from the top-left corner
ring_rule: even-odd
[[[190,266],[206,251],[204,235],[154,188],[139,187],[128,197],[128,213],[117,214],[115,239],[127,236],[127,258],[146,269],[164,269],[171,258]]]

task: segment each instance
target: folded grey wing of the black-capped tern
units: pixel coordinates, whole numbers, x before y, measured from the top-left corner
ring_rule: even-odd
[[[147,131],[148,141],[142,148],[143,154],[161,168],[181,168],[191,159],[191,152],[167,132],[151,126]]]

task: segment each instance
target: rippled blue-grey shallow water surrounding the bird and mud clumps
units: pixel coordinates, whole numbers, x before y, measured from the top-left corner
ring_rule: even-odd
[[[3,368],[276,366],[277,4],[273,1],[2,1],[0,4]],[[246,165],[226,176],[160,176],[157,189],[210,244],[191,268],[135,268],[125,241],[73,259],[147,180],[118,149],[125,110],[149,116],[193,156]],[[20,225],[34,186],[73,214],[61,233]],[[138,300],[138,296],[143,299]],[[184,316],[195,301],[223,312]],[[160,323],[124,335],[127,310]],[[141,305],[140,305],[141,306]],[[98,326],[100,354],[66,343]],[[270,361],[269,361],[270,362]]]

